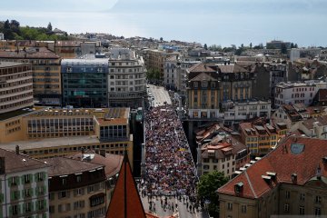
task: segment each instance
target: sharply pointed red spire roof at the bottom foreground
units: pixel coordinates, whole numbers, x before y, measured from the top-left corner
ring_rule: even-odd
[[[145,218],[144,207],[136,189],[131,164],[127,152],[119,172],[114,194],[110,201],[106,218]]]

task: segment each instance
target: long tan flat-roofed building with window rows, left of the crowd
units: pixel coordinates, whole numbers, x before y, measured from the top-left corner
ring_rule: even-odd
[[[133,163],[133,134],[129,108],[43,109],[0,121],[1,147],[21,150],[35,158],[71,155],[83,149],[124,154]],[[15,133],[7,131],[18,128]]]

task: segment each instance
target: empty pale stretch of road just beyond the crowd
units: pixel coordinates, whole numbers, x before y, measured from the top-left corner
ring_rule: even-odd
[[[156,86],[154,84],[148,84],[148,96],[154,97],[153,107],[162,106],[164,103],[172,104],[172,100],[169,97],[168,91],[163,86]]]

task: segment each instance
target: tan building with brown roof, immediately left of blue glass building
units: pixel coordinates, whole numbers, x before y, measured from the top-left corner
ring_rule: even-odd
[[[46,105],[61,104],[61,57],[45,47],[0,51],[0,61],[32,64],[35,101]]]

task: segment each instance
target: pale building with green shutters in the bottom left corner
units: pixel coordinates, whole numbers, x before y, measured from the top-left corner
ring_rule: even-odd
[[[49,165],[0,149],[0,217],[48,218]]]

